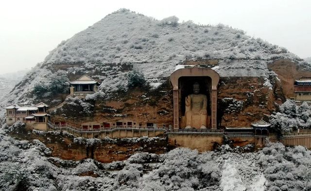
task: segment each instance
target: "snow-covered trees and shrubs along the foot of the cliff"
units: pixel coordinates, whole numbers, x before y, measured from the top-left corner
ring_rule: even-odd
[[[52,157],[39,140],[7,136],[12,128],[0,129],[1,191],[311,190],[311,151],[302,146],[269,143],[249,153],[249,146],[223,145],[202,154],[177,148],[162,155],[136,153],[125,161],[104,164]]]

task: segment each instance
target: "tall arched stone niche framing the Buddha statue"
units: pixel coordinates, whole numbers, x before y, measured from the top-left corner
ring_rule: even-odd
[[[176,66],[175,71],[171,74],[171,83],[173,85],[173,114],[174,114],[174,129],[182,129],[186,126],[189,128],[186,119],[186,98],[193,98],[196,95],[207,98],[206,108],[206,127],[211,129],[217,128],[217,85],[219,82],[219,74],[213,69],[202,68],[198,66]],[[193,92],[193,84],[198,84],[199,92]],[[205,95],[205,96],[204,96]],[[190,99],[190,98],[188,98]],[[201,100],[199,98],[198,100]],[[203,99],[204,100],[204,99]],[[193,103],[192,103],[193,104]],[[192,108],[192,106],[191,106]],[[193,112],[192,112],[193,113]],[[195,112],[194,112],[195,113]],[[191,128],[201,128],[202,124],[197,124],[198,120],[202,121],[199,115],[194,114],[191,117],[193,121]],[[189,115],[188,115],[189,123]]]

